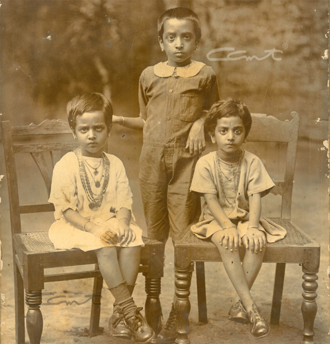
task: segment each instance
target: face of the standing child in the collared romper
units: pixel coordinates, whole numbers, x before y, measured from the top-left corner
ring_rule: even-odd
[[[189,19],[167,19],[164,33],[158,37],[160,47],[165,50],[168,64],[173,67],[186,66],[196,48],[196,35],[193,22]]]

